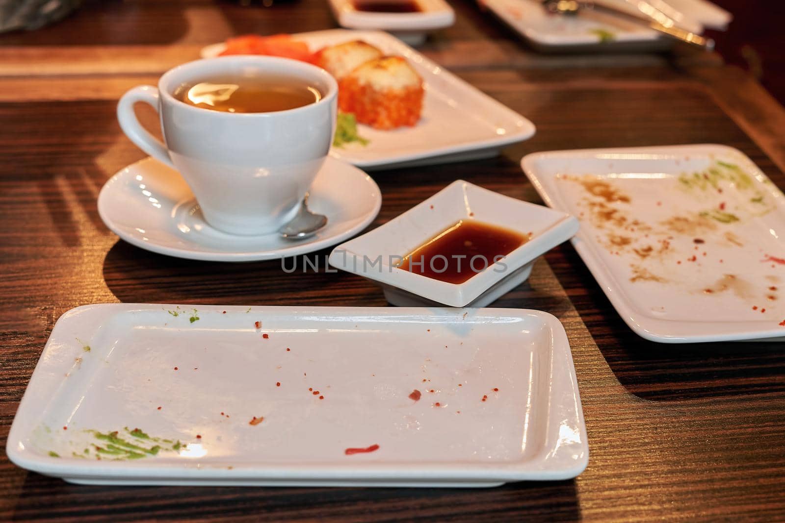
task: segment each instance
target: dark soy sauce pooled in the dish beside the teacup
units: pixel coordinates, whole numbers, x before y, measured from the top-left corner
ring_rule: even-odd
[[[447,283],[463,283],[528,240],[527,234],[490,223],[459,220],[410,252],[397,267]]]

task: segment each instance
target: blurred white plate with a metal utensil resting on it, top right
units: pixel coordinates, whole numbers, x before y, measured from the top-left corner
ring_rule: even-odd
[[[673,40],[663,38],[657,31],[641,24],[630,23],[607,13],[588,13],[579,16],[557,16],[546,12],[542,2],[535,0],[479,0],[505,24],[542,50],[559,49],[667,49]],[[606,3],[627,7],[623,0]],[[727,12],[705,0],[677,0],[668,2],[691,30],[709,24],[713,27],[728,24]],[[629,9],[629,7],[627,7]],[[688,13],[688,14],[687,14]],[[723,16],[725,13],[725,16]],[[703,23],[703,24],[702,24]]]

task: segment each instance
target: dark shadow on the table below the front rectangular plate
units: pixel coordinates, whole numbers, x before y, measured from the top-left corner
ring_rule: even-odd
[[[12,521],[43,514],[87,521],[111,517],[233,521],[579,521],[575,481],[495,488],[253,488],[71,485],[27,473]],[[42,505],[46,499],[46,505]],[[175,516],[173,516],[176,514]]]

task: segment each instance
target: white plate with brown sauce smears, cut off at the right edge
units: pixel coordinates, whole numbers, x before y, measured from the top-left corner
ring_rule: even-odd
[[[722,145],[529,154],[575,249],[627,325],[688,343],[785,336],[783,193]]]

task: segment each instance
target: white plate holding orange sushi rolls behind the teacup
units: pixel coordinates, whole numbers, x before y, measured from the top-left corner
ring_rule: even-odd
[[[292,35],[312,51],[326,45],[363,40],[385,54],[404,56],[425,82],[422,118],[414,127],[382,131],[359,125],[365,146],[348,143],[330,155],[363,169],[488,158],[511,143],[527,140],[535,126],[526,118],[434,64],[397,38],[380,31],[334,29]],[[202,56],[217,56],[224,44],[210,45]]]

